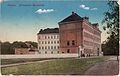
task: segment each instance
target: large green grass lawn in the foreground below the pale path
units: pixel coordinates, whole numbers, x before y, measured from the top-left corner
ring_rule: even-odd
[[[32,63],[1,68],[1,73],[13,75],[77,75],[84,72],[92,65],[104,61],[105,57],[85,59],[55,59],[42,63]]]

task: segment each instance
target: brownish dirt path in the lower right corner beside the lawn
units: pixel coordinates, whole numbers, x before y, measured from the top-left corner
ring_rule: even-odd
[[[116,57],[111,57],[105,62],[100,62],[85,72],[85,75],[118,75],[119,62]]]

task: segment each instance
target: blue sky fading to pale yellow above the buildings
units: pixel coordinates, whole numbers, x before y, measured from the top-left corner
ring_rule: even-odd
[[[74,11],[99,23],[103,42],[107,34],[101,22],[107,10],[107,1],[100,0],[5,0],[0,2],[0,41],[37,42],[40,29],[59,27],[58,22]]]

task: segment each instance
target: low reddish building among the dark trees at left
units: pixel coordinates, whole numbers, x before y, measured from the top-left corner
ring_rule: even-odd
[[[25,43],[27,45],[26,48],[20,47],[20,48],[15,48],[15,54],[16,55],[21,55],[21,54],[37,54],[38,51],[36,48],[34,48],[31,44]]]

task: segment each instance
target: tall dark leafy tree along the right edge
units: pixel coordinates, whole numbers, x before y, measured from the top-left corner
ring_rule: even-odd
[[[117,1],[109,1],[109,10],[105,12],[105,17],[102,23],[103,29],[107,30],[109,37],[102,45],[104,55],[119,54],[119,5]]]

